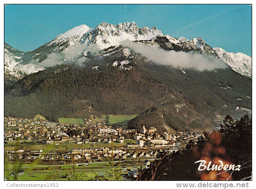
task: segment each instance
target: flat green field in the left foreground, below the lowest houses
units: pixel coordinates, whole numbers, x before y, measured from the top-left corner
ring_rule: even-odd
[[[66,175],[73,175],[73,167],[75,168],[75,175],[80,176],[81,180],[95,179],[95,176],[104,176],[108,180],[116,180],[113,177],[114,171],[127,174],[124,168],[132,168],[133,166],[144,167],[143,163],[135,164],[133,161],[129,162],[97,162],[88,165],[30,165],[23,164],[19,170],[24,170],[24,174],[18,175],[17,180],[67,180]],[[7,180],[14,180],[14,176],[9,174],[13,171],[13,164],[5,166],[4,174]],[[31,169],[31,167],[33,167]]]

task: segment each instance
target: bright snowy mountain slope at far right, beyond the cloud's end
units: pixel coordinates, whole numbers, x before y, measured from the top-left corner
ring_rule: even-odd
[[[228,64],[232,70],[240,73],[241,75],[252,77],[252,57],[245,55],[241,52],[226,52],[219,47],[214,48],[218,57]]]

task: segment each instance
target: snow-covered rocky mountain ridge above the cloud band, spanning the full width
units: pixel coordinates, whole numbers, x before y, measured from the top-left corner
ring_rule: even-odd
[[[242,53],[232,54],[225,52],[223,49],[223,51],[214,50],[201,37],[196,37],[192,40],[187,40],[185,37],[177,39],[170,35],[162,34],[156,27],[139,28],[135,22],[117,25],[103,22],[94,28],[90,28],[85,24],[80,25],[64,34],[60,34],[54,40],[32,52],[21,52],[5,43],[5,76],[11,76],[12,79],[20,79],[26,74],[43,70],[44,67],[38,65],[41,65],[39,63],[44,61],[48,55],[52,52],[65,52],[66,49],[75,44],[83,45],[82,54],[86,56],[87,52],[91,50],[90,45],[92,44],[102,50],[111,46],[120,46],[123,40],[137,41],[147,45],[158,44],[165,50],[194,51],[204,55],[215,55],[226,62],[233,70],[251,77],[251,58],[248,58],[247,55]]]

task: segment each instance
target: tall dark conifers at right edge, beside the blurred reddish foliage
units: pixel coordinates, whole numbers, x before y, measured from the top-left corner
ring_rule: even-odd
[[[241,170],[232,174],[234,180],[251,179],[252,117],[246,114],[240,120],[234,121],[231,116],[226,116],[219,132],[223,136],[221,143],[231,161],[235,165],[241,165]]]

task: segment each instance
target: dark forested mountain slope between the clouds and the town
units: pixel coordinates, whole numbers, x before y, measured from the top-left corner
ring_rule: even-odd
[[[230,68],[203,72],[187,69],[183,74],[180,69],[137,56],[129,59],[131,70],[121,70],[111,66],[113,60],[120,62],[123,56],[116,53],[95,58],[85,66],[49,67],[5,86],[4,116],[32,118],[41,114],[56,121],[59,117],[85,118],[89,107],[91,113],[100,116],[140,114],[167,105],[173,112],[165,114],[168,122],[175,119],[177,127],[183,127],[181,115],[174,115],[177,103],[185,103],[187,110],[194,112],[188,114],[205,119],[216,112],[240,116],[242,112],[236,112],[236,106],[251,109],[252,79]],[[92,69],[95,65],[99,65],[98,70]]]

